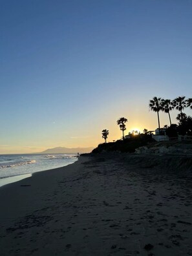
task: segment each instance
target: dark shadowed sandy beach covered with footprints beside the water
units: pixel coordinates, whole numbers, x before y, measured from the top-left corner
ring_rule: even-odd
[[[108,153],[0,188],[3,255],[192,255],[191,156]]]

